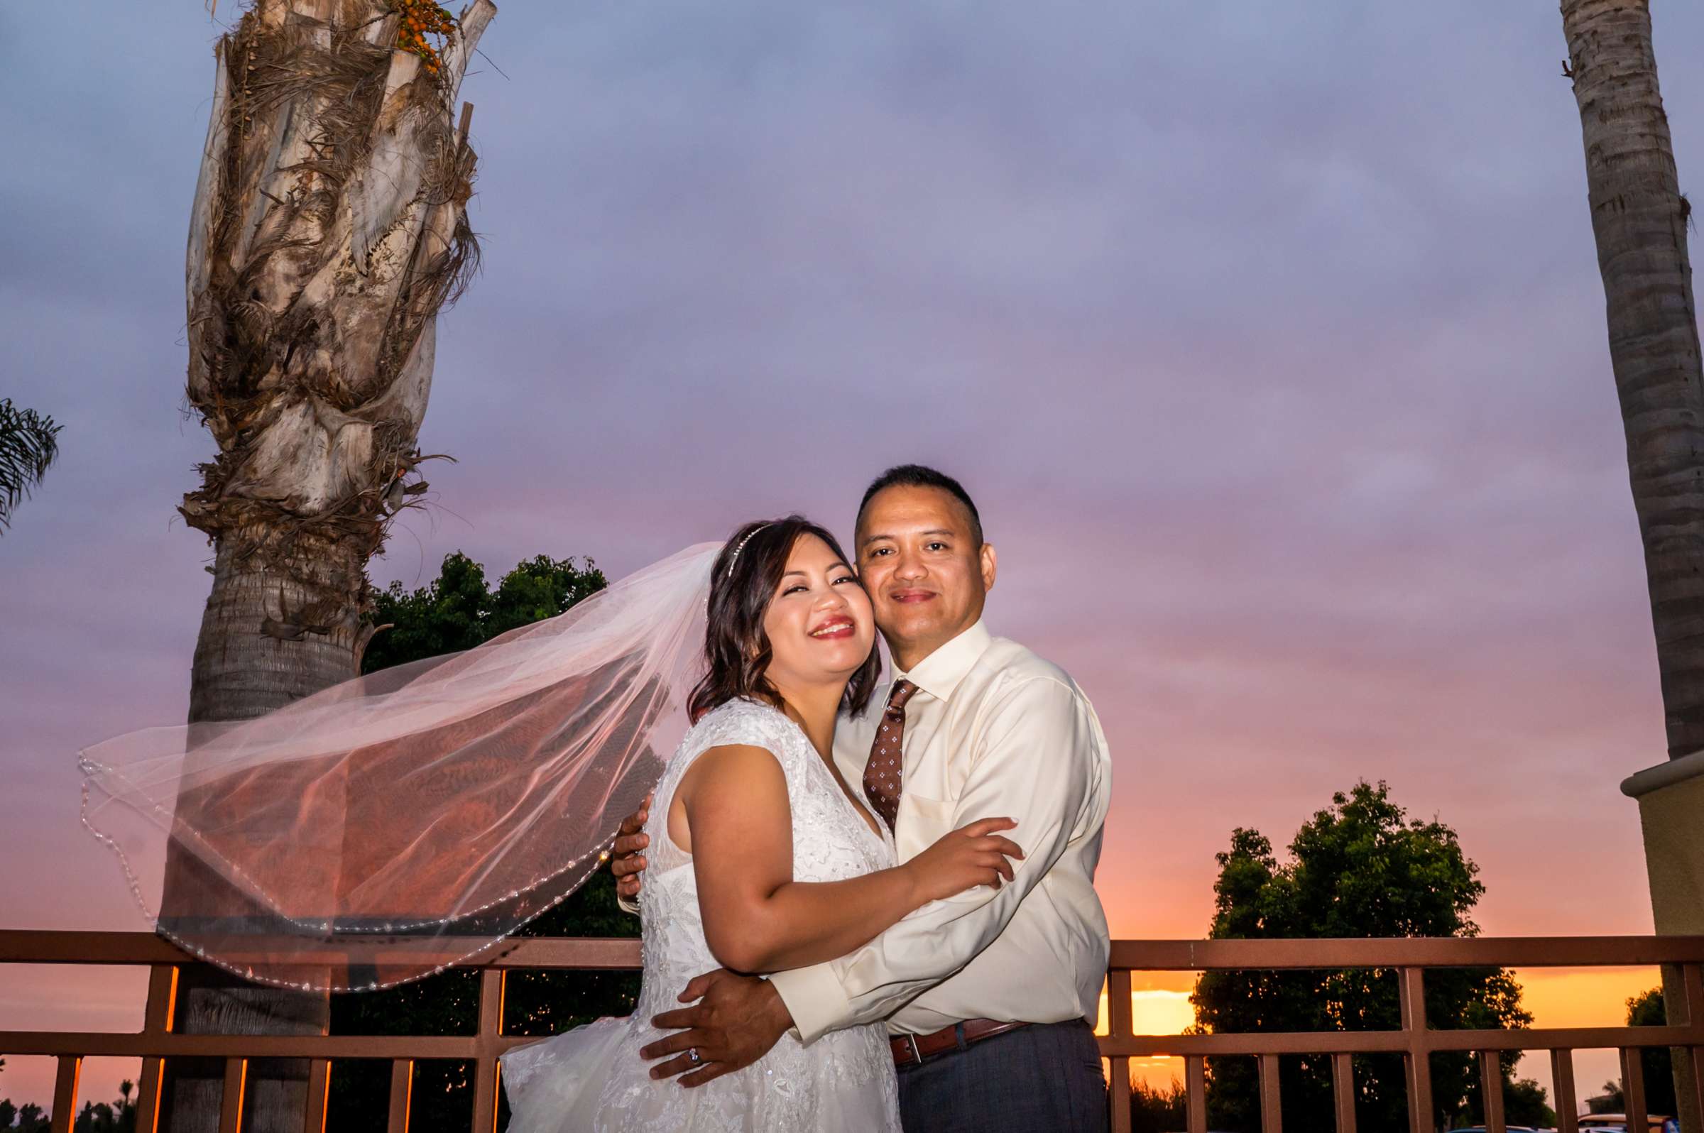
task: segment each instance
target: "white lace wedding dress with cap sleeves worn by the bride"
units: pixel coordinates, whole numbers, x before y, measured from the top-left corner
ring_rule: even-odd
[[[794,881],[843,881],[893,866],[886,826],[876,820],[883,833],[871,830],[791,719],[751,700],[705,714],[663,772],[646,826],[639,1004],[627,1019],[600,1019],[504,1055],[509,1133],[898,1133],[898,1087],[881,1024],[832,1031],[809,1048],[787,1032],[757,1063],[694,1089],[651,1080],[653,1063],[639,1058],[639,1048],[663,1034],[651,1017],[680,1007],[675,997],[687,981],[721,966],[704,940],[692,855],[668,837],[668,808],[687,767],[731,743],[774,753],[787,777]]]

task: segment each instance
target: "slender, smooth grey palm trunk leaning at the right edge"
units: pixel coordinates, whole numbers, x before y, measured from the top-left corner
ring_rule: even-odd
[[[1704,371],[1687,228],[1668,116],[1656,83],[1649,0],[1563,0],[1568,66],[1585,136],[1586,187],[1609,313],[1610,366],[1627,434],[1632,503],[1656,630],[1668,758],[1704,751]],[[1682,837],[1682,842],[1687,838]],[[1656,901],[1668,837],[1646,814],[1660,932],[1684,932]],[[1680,971],[1663,968],[1670,1021],[1685,1017]],[[1697,1021],[1689,1021],[1697,1022]],[[1685,1133],[1704,1133],[1692,1055],[1672,1051]]]

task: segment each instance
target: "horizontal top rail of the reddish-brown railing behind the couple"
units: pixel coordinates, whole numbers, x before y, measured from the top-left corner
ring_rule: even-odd
[[[421,940],[399,942],[419,946]],[[193,961],[150,932],[0,929],[0,964]],[[1334,968],[1597,968],[1704,963],[1704,937],[1389,937],[1351,940],[1113,940],[1128,971]],[[636,968],[636,939],[511,939],[469,968]]]

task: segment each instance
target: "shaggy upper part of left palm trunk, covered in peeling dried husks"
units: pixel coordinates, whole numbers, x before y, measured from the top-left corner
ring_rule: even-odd
[[[186,390],[218,455],[181,511],[242,555],[305,578],[315,542],[383,543],[436,315],[479,266],[452,107],[494,14],[469,5],[435,68],[390,0],[257,0],[218,44]]]

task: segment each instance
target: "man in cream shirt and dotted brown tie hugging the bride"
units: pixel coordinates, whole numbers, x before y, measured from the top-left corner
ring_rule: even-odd
[[[1055,664],[982,624],[993,547],[970,494],[922,465],[864,492],[859,578],[895,680],[843,717],[835,763],[895,831],[900,860],[978,818],[1017,820],[1016,879],[934,901],[826,964],[753,978],[717,969],[658,1015],[682,1027],[641,1051],[683,1085],[748,1067],[789,1027],[804,1043],[886,1019],[910,1133],[1102,1130],[1092,1034],[1108,932],[1094,893],[1111,792],[1106,738]],[[641,816],[634,816],[639,820]],[[612,866],[639,891],[646,837],[624,825]],[[685,1053],[690,1051],[690,1053]]]

